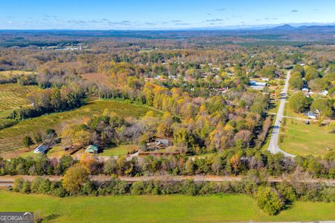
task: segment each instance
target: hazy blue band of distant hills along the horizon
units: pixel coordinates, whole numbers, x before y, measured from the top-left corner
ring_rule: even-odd
[[[335,44],[335,25],[323,24],[270,24],[258,27],[208,27],[184,30],[0,30],[0,47],[29,45],[59,45],[79,43],[91,38],[142,38],[142,39],[215,39],[217,43],[252,42],[318,42]],[[255,40],[257,39],[257,40]],[[215,41],[214,41],[215,42]],[[272,44],[272,43],[271,43]]]

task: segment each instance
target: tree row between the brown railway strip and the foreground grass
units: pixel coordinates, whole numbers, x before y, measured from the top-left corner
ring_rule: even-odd
[[[36,177],[34,180],[16,178],[10,190],[25,194],[50,194],[57,197],[104,196],[104,195],[165,195],[185,194],[188,196],[211,194],[248,194],[253,197],[268,215],[276,215],[289,208],[295,201],[335,201],[335,187],[325,183],[305,183],[289,180],[279,183],[267,182],[264,175],[248,171],[241,181],[222,183],[193,180],[166,181],[147,180],[126,183],[116,176],[109,180],[89,180],[85,167],[75,164],[60,181]]]

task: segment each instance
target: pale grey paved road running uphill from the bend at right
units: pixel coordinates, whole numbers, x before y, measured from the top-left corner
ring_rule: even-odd
[[[279,148],[278,146],[279,130],[281,128],[281,120],[284,114],[285,100],[288,94],[288,80],[290,79],[290,76],[291,71],[289,71],[288,74],[286,75],[285,86],[283,91],[281,92],[280,105],[276,115],[276,121],[274,122],[274,128],[272,129],[270,144],[267,150],[270,151],[271,153],[283,153],[285,156],[295,157],[295,155],[282,151],[281,148]]]

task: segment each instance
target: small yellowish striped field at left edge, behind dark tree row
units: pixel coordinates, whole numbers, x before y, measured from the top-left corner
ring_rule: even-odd
[[[0,117],[6,110],[29,105],[26,95],[36,91],[38,86],[20,86],[18,84],[0,84]]]

